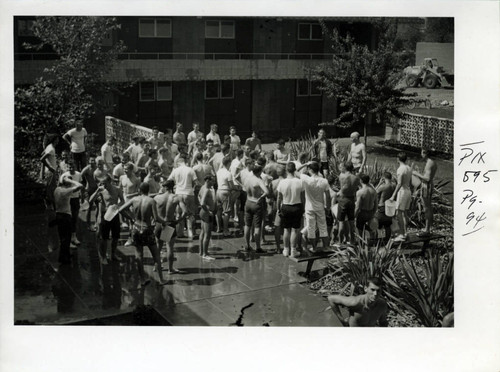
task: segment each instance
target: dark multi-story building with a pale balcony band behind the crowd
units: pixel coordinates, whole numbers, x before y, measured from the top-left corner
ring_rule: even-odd
[[[56,58],[47,49],[23,49],[23,42],[32,41],[32,19],[15,20],[16,84],[30,84]],[[221,133],[235,125],[243,137],[256,130],[264,139],[275,139],[315,131],[339,114],[336,100],[309,79],[308,69],[328,63],[335,52],[317,18],[165,16],[118,21],[121,29],[107,42],[123,40],[127,50],[108,78],[133,85],[123,95],[107,97],[107,112],[85,124],[101,136],[104,115],[162,131],[178,121],[188,127],[199,122],[204,131],[217,123]],[[325,22],[369,47],[376,44],[371,19]],[[371,133],[377,130],[375,123],[370,125]]]

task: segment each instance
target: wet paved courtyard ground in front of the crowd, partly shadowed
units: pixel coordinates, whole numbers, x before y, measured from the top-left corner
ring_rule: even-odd
[[[47,221],[42,206],[16,206],[16,324],[340,326],[333,313],[323,311],[327,303],[304,285],[299,275],[304,265],[274,253],[274,245],[263,246],[265,254],[248,254],[241,250],[241,236],[215,235],[210,254],[216,259],[205,261],[197,240],[178,238],[174,267],[182,273],[165,271],[160,286],[144,249],[151,282],[142,287],[135,249],[124,246],[126,231],[118,246],[120,261],[103,265],[96,235],[80,219],[82,243],[72,250],[71,264],[60,265],[57,228]]]

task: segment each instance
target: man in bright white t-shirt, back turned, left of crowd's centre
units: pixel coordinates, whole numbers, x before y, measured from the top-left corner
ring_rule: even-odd
[[[194,199],[194,186],[198,183],[194,170],[186,165],[184,155],[178,159],[179,166],[172,170],[169,180],[174,180],[176,188],[175,195],[179,198],[179,206],[184,212],[187,222],[188,238],[193,239],[193,221],[196,213],[196,203]]]

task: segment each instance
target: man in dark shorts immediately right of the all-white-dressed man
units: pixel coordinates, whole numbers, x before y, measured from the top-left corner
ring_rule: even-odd
[[[340,164],[340,191],[338,194],[338,220],[341,243],[344,239],[351,244],[354,239],[354,208],[359,178],[352,174],[354,167],[350,161]],[[346,222],[347,219],[347,222]]]

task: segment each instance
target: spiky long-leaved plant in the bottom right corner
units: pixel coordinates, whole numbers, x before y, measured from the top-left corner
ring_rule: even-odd
[[[453,253],[440,256],[433,252],[424,260],[419,275],[415,264],[401,257],[397,270],[384,273],[386,295],[395,307],[402,307],[419,318],[427,327],[437,327],[444,316],[453,312]]]

